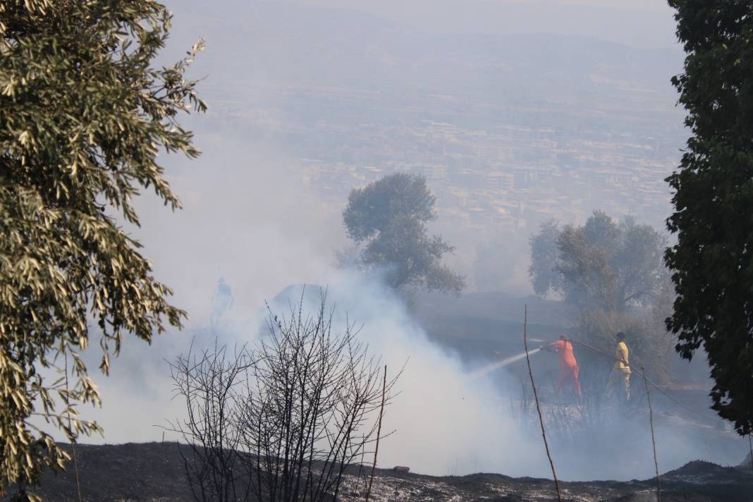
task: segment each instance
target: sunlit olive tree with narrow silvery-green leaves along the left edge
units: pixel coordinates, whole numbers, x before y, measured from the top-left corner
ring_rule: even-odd
[[[100,430],[76,406],[100,403],[90,330],[106,374],[123,333],[148,342],[185,315],[115,219],[139,224],[139,187],[180,206],[158,148],[198,155],[176,117],[205,109],[184,79],[201,44],[151,67],[169,26],[148,0],[0,3],[0,491],[18,500],[68,458],[32,418],[72,441]]]

